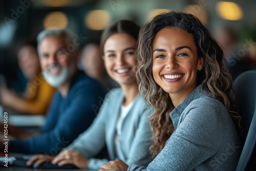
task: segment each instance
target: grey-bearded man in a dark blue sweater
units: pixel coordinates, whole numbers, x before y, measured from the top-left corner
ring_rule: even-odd
[[[105,91],[100,83],[78,71],[74,41],[68,30],[43,30],[37,36],[42,75],[57,91],[37,135],[8,125],[8,134],[15,138],[8,141],[8,152],[56,155],[91,125],[97,114],[93,105],[101,105],[99,98],[104,98]]]

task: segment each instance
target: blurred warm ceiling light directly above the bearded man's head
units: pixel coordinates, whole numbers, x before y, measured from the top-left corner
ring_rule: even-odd
[[[65,29],[68,25],[68,18],[65,13],[55,11],[47,14],[44,19],[44,27],[46,29],[59,28]]]

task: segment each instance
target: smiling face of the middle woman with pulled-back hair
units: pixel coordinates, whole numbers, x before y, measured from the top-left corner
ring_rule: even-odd
[[[127,33],[113,34],[105,41],[103,59],[106,71],[120,85],[136,81],[135,48],[136,39]]]

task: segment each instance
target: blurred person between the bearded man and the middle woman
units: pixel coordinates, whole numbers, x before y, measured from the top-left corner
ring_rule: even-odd
[[[80,61],[83,71],[102,83],[108,91],[118,87],[118,84],[106,73],[100,47],[96,42],[89,42],[83,47]]]

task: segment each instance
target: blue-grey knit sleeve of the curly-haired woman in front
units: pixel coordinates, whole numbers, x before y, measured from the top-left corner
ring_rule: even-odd
[[[218,110],[214,104],[189,109],[157,157],[146,168],[132,165],[128,170],[193,170],[217,153],[222,136]]]

